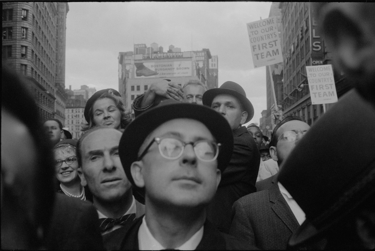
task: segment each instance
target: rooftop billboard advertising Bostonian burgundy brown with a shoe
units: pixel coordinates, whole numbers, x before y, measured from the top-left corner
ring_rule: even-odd
[[[153,61],[134,63],[134,78],[190,77],[192,61]]]

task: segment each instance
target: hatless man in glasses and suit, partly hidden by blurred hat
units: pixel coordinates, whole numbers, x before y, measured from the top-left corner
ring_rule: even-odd
[[[270,153],[279,166],[309,129],[297,116],[287,116],[276,125]],[[285,250],[289,237],[305,221],[305,213],[277,177],[275,174],[257,182],[260,192],[246,195],[233,205],[230,234],[241,236],[260,249]]]

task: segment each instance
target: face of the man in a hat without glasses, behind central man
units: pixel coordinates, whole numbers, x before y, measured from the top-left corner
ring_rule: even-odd
[[[225,117],[233,131],[245,123],[248,115],[246,111],[242,111],[239,100],[228,94],[219,94],[214,97],[211,108]]]

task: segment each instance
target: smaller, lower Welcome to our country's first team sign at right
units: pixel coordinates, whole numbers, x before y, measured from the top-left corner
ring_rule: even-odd
[[[337,102],[332,65],[306,66],[306,73],[313,105]]]

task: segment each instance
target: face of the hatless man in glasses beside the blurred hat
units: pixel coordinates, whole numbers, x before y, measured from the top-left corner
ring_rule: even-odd
[[[290,142],[281,137],[277,143],[276,147],[270,147],[270,153],[273,160],[276,160],[280,166],[280,164],[287,159],[291,151],[296,147],[296,144],[299,140],[303,137],[302,133],[309,131],[310,126],[303,121],[300,120],[291,120],[284,125],[280,126],[278,131],[276,132],[276,137],[280,138],[284,132],[293,131],[297,132],[297,138],[295,141]]]

